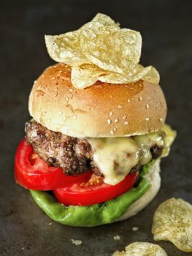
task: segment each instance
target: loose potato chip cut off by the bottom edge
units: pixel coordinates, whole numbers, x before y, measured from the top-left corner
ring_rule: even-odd
[[[164,249],[158,244],[135,242],[126,246],[124,252],[114,252],[112,256],[167,256]]]

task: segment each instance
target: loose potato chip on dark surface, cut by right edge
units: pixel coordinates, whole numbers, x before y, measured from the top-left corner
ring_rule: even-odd
[[[192,206],[182,199],[161,203],[153,217],[152,233],[156,241],[169,240],[178,249],[192,252]]]

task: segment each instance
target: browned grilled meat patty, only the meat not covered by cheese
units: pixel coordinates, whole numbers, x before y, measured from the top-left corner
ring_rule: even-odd
[[[61,167],[64,173],[72,176],[88,170],[93,170],[98,176],[102,175],[93,160],[93,148],[86,138],[74,138],[50,131],[33,120],[26,122],[25,131],[27,143],[48,165]],[[154,159],[160,157],[162,149],[156,144],[150,148]],[[140,168],[138,163],[131,171]]]

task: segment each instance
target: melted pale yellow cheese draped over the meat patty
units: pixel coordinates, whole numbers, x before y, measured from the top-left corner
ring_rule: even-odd
[[[170,127],[168,129],[167,125],[165,129],[166,131],[163,129],[160,132],[130,138],[88,138],[94,151],[93,159],[104,174],[104,182],[111,185],[118,184],[138,162],[140,165],[150,162],[152,159],[150,148],[155,144],[168,148],[165,151],[169,152],[175,132]]]

